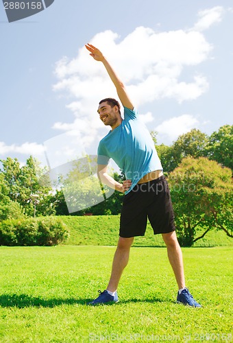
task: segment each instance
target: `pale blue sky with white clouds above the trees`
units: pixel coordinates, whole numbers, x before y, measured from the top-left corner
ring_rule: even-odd
[[[95,154],[109,130],[98,101],[116,93],[88,42],[112,62],[158,143],[232,124],[232,32],[228,0],[55,0],[14,23],[1,2],[0,158],[42,161],[50,146],[59,165],[75,154],[69,137]]]

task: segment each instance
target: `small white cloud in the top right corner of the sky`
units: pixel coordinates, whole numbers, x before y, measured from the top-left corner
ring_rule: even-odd
[[[224,14],[224,9],[221,6],[216,6],[208,10],[203,10],[198,13],[199,20],[195,23],[193,29],[195,31],[204,31],[215,23],[220,23]]]

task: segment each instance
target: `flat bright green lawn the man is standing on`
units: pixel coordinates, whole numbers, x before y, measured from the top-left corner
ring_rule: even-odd
[[[206,342],[208,335],[230,342],[231,247],[182,249],[186,283],[201,309],[175,303],[166,248],[138,247],[119,285],[120,302],[88,307],[106,287],[114,250],[1,247],[0,342]]]

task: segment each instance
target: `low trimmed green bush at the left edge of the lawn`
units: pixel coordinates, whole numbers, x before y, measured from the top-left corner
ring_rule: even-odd
[[[65,224],[56,217],[5,220],[0,224],[1,246],[54,246],[67,237]]]

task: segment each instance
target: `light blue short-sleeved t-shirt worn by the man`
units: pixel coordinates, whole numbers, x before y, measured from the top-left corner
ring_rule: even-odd
[[[125,178],[132,181],[132,186],[125,194],[146,174],[162,170],[151,134],[135,108],[130,110],[124,107],[121,125],[108,132],[99,142],[97,163],[107,165],[110,158],[123,171]]]

